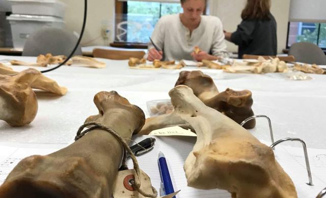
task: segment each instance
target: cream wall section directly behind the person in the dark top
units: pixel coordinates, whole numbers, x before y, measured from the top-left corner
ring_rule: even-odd
[[[218,16],[226,31],[233,32],[241,22],[241,11],[246,4],[246,0],[210,0],[213,5],[210,11]],[[271,0],[271,13],[277,21],[278,53],[286,46],[287,26],[289,18],[290,0]],[[237,51],[237,46],[227,42],[228,50]]]

